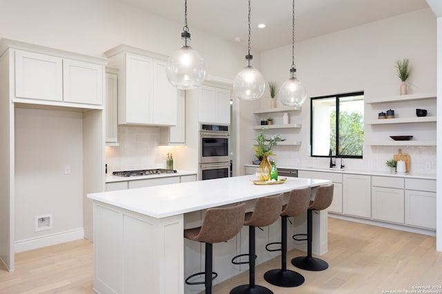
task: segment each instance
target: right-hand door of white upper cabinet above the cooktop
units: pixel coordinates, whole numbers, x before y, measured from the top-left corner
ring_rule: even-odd
[[[176,126],[177,89],[166,76],[166,61],[155,59],[153,65],[153,124]]]

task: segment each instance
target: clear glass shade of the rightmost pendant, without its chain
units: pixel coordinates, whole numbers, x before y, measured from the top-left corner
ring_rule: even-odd
[[[290,77],[279,89],[279,99],[285,106],[301,106],[307,98],[307,92],[296,79],[296,68],[290,69]]]

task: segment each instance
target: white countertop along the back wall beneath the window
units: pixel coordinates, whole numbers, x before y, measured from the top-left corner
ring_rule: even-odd
[[[258,168],[257,165],[254,164],[244,164],[244,166],[250,166]],[[294,168],[293,166],[277,166],[278,168],[290,168],[296,170],[312,170],[318,172],[327,172],[327,173],[347,173],[353,175],[378,175],[384,177],[410,177],[414,179],[436,179],[436,174],[434,173],[392,173],[383,170],[356,170],[354,168],[315,168],[312,166],[300,166]]]

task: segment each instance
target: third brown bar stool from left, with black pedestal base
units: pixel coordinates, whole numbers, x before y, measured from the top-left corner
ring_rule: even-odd
[[[296,287],[304,283],[305,279],[296,271],[287,270],[287,217],[296,217],[307,211],[310,203],[311,188],[291,190],[289,199],[282,206],[281,216],[281,242],[269,243],[265,246],[267,251],[281,251],[281,268],[267,271],[264,279],[270,284],[280,287]],[[280,244],[281,248],[270,249],[269,246]]]

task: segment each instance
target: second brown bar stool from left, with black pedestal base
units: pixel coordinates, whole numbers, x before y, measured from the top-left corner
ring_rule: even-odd
[[[249,284],[233,288],[230,294],[273,294],[268,288],[255,284],[255,259],[256,259],[256,238],[255,228],[269,226],[278,219],[284,194],[278,196],[267,196],[256,199],[253,212],[246,213],[244,216],[244,226],[249,226],[249,253],[236,255],[233,257],[233,264],[249,264]],[[247,262],[236,262],[235,259],[242,256],[248,256]]]

